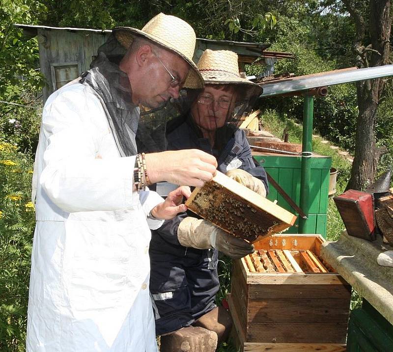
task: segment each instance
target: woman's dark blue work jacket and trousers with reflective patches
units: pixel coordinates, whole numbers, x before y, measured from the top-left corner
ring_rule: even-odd
[[[261,179],[267,190],[263,167],[255,167],[250,145],[243,131],[237,130],[221,153],[212,150],[206,138],[183,122],[168,134],[168,149],[200,149],[214,155],[218,169],[226,173],[230,162],[241,162],[241,168]],[[237,164],[240,162],[237,161]],[[152,231],[150,242],[150,292],[153,298],[156,333],[158,335],[189,326],[212,310],[220,283],[216,249],[186,248],[177,240],[177,228],[185,217],[197,217],[189,212],[167,220]]]

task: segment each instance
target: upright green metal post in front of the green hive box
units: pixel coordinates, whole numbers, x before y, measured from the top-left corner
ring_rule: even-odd
[[[314,97],[306,95],[303,105],[302,169],[300,175],[300,208],[309,217],[311,157],[312,157],[312,118],[314,114]],[[308,226],[309,220],[299,217],[299,233],[313,233],[315,229]]]

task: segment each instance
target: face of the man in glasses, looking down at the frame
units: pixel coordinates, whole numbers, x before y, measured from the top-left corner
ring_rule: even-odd
[[[189,65],[178,55],[164,50],[159,53],[152,51],[149,59],[145,81],[140,89],[140,103],[148,108],[159,108],[170,98],[179,97]],[[180,82],[179,85],[171,86],[172,76]]]

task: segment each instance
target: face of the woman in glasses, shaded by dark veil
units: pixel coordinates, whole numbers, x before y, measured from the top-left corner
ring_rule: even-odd
[[[235,107],[236,93],[233,87],[205,85],[193,103],[191,113],[197,126],[202,130],[214,132],[223,127],[227,117]]]

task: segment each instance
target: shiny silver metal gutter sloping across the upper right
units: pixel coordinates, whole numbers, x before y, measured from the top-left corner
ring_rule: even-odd
[[[260,96],[269,97],[325,85],[365,81],[387,76],[393,76],[393,65],[367,67],[357,70],[329,71],[317,75],[300,76],[272,82],[267,81],[258,84],[263,88],[263,93]]]

